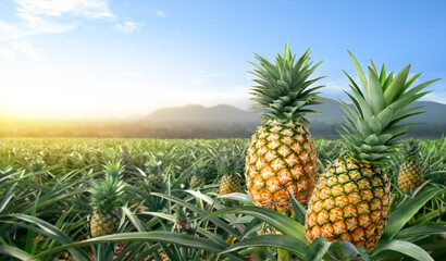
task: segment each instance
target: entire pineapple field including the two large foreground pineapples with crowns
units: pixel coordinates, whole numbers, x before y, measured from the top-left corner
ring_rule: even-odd
[[[1,258],[444,260],[446,138],[401,139],[438,79],[349,55],[339,140],[311,136],[322,62],[288,45],[251,63],[250,140],[1,139]]]

